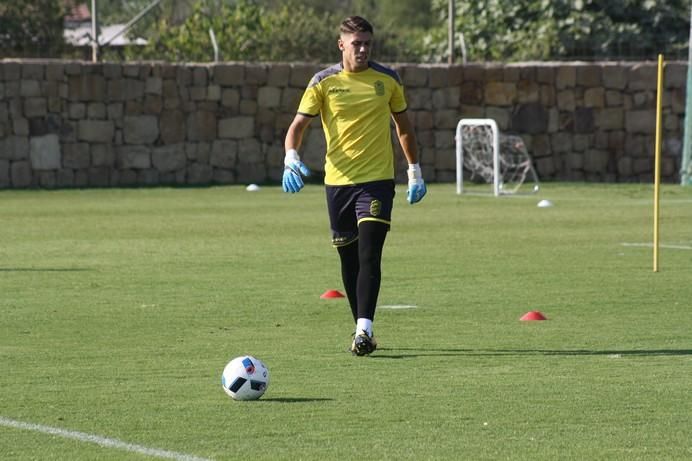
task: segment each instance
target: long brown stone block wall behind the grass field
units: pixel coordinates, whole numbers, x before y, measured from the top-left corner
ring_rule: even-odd
[[[286,129],[322,67],[0,61],[0,188],[277,182]],[[429,181],[455,180],[462,117],[520,134],[543,181],[652,179],[655,63],[392,67]],[[668,182],[679,178],[686,72],[666,66]],[[318,121],[301,155],[323,169]]]

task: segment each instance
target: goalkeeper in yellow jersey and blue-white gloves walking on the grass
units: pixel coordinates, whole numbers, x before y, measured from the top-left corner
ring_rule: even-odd
[[[299,192],[308,168],[298,149],[313,118],[321,117],[327,141],[325,185],[332,244],[355,321],[351,352],[372,353],[372,332],[380,290],[382,248],[394,201],[394,153],[390,121],[408,161],[407,200],[426,193],[416,138],[406,113],[401,79],[370,61],[373,28],[359,16],[346,18],[338,47],[342,60],[315,74],[286,134],[283,189]]]

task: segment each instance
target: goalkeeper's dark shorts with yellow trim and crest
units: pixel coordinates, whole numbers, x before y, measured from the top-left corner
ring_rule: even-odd
[[[358,224],[363,221],[385,223],[389,230],[394,204],[394,180],[327,186],[326,191],[332,245],[335,247],[357,240]]]

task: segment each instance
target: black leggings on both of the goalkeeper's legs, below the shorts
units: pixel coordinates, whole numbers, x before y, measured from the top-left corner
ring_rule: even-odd
[[[363,221],[358,225],[358,240],[337,248],[341,278],[354,321],[375,318],[382,280],[382,248],[388,229],[389,226],[382,222]]]

